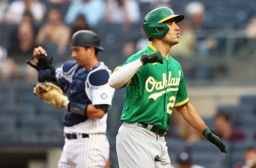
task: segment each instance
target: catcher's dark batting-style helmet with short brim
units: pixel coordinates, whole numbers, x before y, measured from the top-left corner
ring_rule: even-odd
[[[84,47],[94,47],[99,51],[104,51],[105,49],[100,46],[100,38],[97,33],[91,30],[79,30],[74,33],[71,38],[71,46],[84,46]]]

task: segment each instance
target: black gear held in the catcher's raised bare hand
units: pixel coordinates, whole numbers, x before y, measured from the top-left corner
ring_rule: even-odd
[[[31,57],[30,60],[26,61],[26,63],[35,68],[37,71],[50,69],[52,72],[55,72],[52,59],[53,57],[49,57],[45,53],[37,55],[36,57]]]

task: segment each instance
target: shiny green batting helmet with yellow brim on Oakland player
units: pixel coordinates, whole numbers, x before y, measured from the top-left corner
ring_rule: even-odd
[[[144,18],[143,30],[146,33],[147,38],[151,41],[152,37],[164,37],[169,31],[169,27],[163,22],[174,19],[176,23],[184,19],[184,15],[175,15],[169,7],[158,7],[157,9],[150,11]],[[158,29],[163,29],[159,31]]]

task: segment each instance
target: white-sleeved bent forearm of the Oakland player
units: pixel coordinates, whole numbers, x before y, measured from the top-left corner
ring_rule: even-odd
[[[117,71],[110,75],[110,78],[108,79],[109,85],[113,88],[123,87],[142,66],[141,58],[121,66]]]

